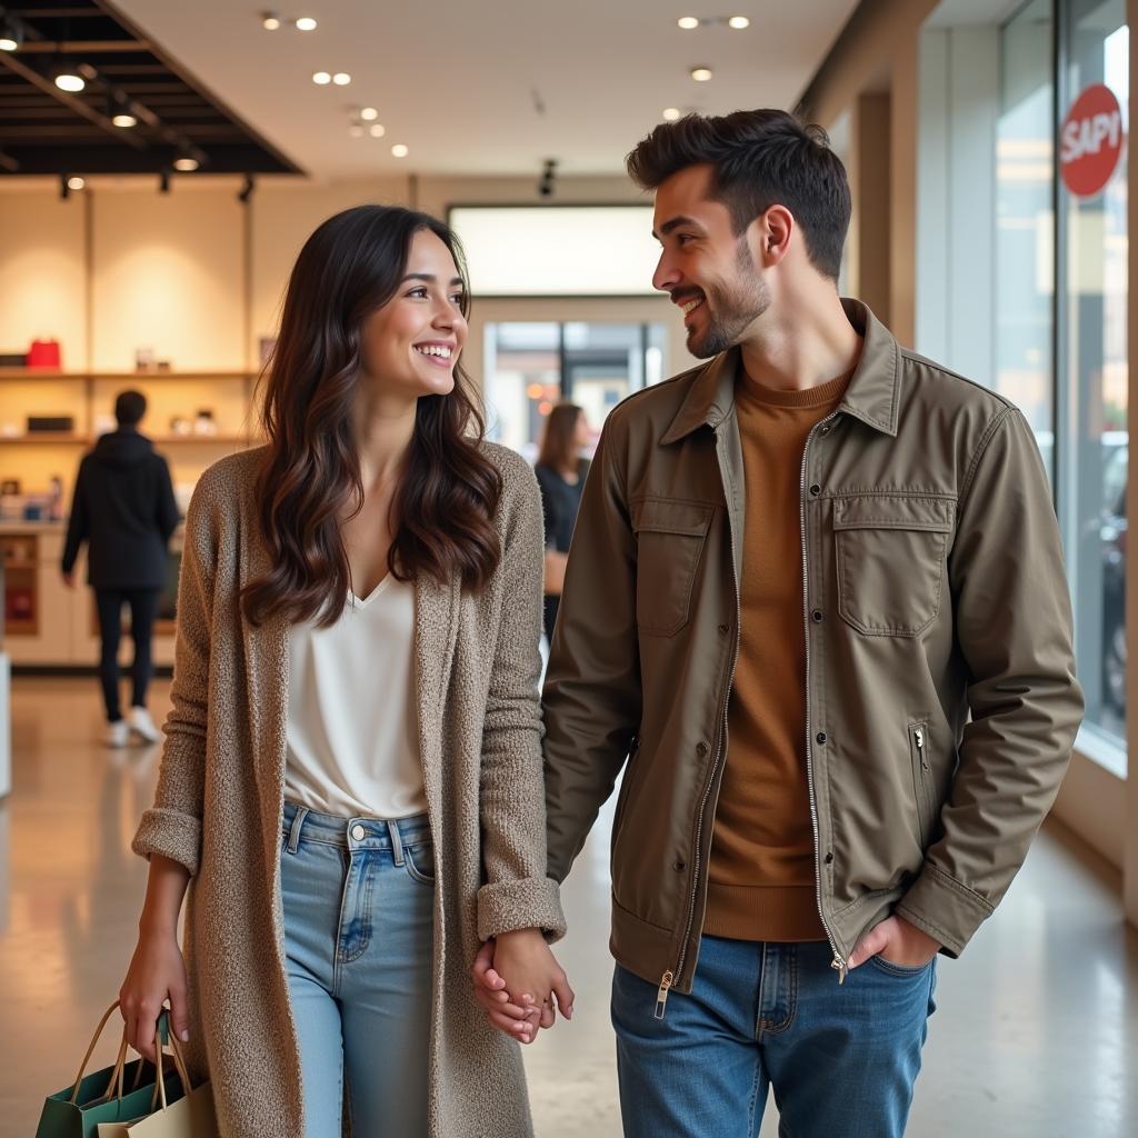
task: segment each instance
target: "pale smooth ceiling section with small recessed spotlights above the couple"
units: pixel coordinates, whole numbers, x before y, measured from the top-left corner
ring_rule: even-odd
[[[0,0],[2,2],[2,0]],[[241,121],[318,178],[618,173],[665,107],[791,107],[857,0],[115,0]],[[710,7],[709,7],[710,3]],[[272,7],[266,2],[264,8]],[[681,31],[682,15],[751,18]],[[314,17],[299,32],[291,19]],[[708,83],[688,72],[707,65]],[[316,71],[348,86],[318,86]],[[349,134],[374,107],[382,138]],[[393,157],[393,143],[410,152]],[[208,149],[208,148],[206,148]],[[203,167],[205,170],[206,167]]]

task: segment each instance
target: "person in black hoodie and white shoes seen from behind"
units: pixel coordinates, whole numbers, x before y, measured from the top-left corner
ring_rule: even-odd
[[[94,589],[102,638],[99,677],[109,747],[125,747],[132,733],[149,743],[159,737],[146,709],[146,692],[154,621],[166,577],[166,546],[179,514],[166,460],[139,434],[143,414],[145,395],[119,393],[115,399],[118,429],[104,435],[80,463],[64,544],[64,580],[74,588],[75,559],[88,543],[88,584]],[[134,691],[126,719],[118,701],[124,604],[131,608],[134,641]]]

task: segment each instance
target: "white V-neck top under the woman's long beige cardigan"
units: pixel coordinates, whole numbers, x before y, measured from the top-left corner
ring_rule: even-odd
[[[388,574],[330,628],[294,625],[284,797],[340,817],[424,814],[412,683],[414,586]]]

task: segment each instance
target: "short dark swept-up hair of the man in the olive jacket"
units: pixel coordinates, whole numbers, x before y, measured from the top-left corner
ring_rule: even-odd
[[[850,187],[820,126],[774,109],[686,115],[661,123],[626,159],[633,181],[645,190],[703,163],[714,168],[711,197],[731,212],[736,236],[772,206],[785,206],[802,229],[810,264],[838,280]]]

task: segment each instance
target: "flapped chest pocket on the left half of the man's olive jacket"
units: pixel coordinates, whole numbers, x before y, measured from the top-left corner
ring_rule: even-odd
[[[636,625],[675,636],[691,616],[695,571],[715,508],[671,498],[633,503],[636,531]]]

